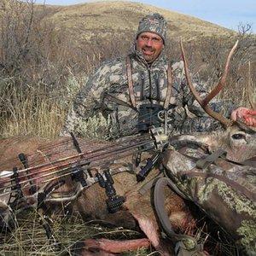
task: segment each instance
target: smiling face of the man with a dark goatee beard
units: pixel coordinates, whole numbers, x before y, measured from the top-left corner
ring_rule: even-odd
[[[157,34],[142,32],[137,38],[136,47],[137,51],[143,53],[145,61],[151,64],[160,55],[162,49],[164,49],[164,42]]]

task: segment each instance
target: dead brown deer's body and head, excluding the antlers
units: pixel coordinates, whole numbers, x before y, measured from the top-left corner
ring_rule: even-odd
[[[242,161],[256,155],[255,137],[253,132],[248,134],[242,131],[241,128],[232,126],[230,129],[221,133],[195,134],[193,136],[184,135],[177,137],[177,139],[180,141],[203,143],[212,151],[223,147],[228,152],[228,157],[231,160]],[[79,139],[79,145],[84,152],[93,151],[94,148],[111,148],[109,147],[111,143],[85,138]],[[218,145],[221,146],[219,147]],[[241,148],[241,145],[245,146]],[[35,137],[4,139],[0,147],[1,170],[11,170],[14,166],[23,169],[24,166],[22,166],[17,157],[20,152],[27,155],[28,166],[32,166],[33,163],[40,166],[44,163],[54,162],[55,160],[76,154],[76,149],[73,147],[71,138],[67,137],[60,137],[53,141]],[[108,212],[108,207],[105,203],[108,196],[106,195],[105,189],[98,183],[93,183],[88,188],[82,189],[79,195],[75,196],[73,200],[67,200],[67,202],[72,201],[72,204],[69,206],[71,207],[70,210],[78,211],[84,221],[103,221],[105,224],[143,230],[143,233],[157,250],[164,255],[172,255],[172,247],[170,245],[166,246],[166,241],[160,238],[159,226],[150,199],[150,188],[146,189],[145,193],[141,193],[140,190],[149,180],[157,177],[160,171],[154,168],[142,183],[137,183],[135,174],[131,172],[131,163],[132,156],[130,155],[121,160],[112,161],[110,166],[111,169],[123,170],[113,175],[114,189],[116,189],[117,195],[125,197],[125,203],[120,211],[114,213]],[[95,172],[95,170],[92,171]],[[44,175],[45,173],[41,173],[40,168],[34,171],[34,173],[30,173],[32,177],[36,177],[35,183],[44,180],[42,174]],[[61,202],[61,196],[65,197],[66,194],[73,193],[79,186],[79,183],[74,182],[70,176],[65,177],[64,180],[65,183],[53,193],[53,195],[58,195],[59,199],[56,201],[49,200],[47,210],[58,206]],[[4,183],[4,181],[0,182]],[[25,183],[25,187],[26,185],[27,182]],[[29,189],[23,189],[23,193],[29,195]],[[53,196],[53,198],[58,198],[58,196]],[[33,204],[34,201],[31,203]],[[166,189],[166,210],[172,226],[177,231],[183,232],[185,228],[195,224],[189,208],[181,197],[172,192],[171,189]]]

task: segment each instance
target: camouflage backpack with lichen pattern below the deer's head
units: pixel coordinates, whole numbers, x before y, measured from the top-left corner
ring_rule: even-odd
[[[166,175],[232,237],[241,255],[256,255],[255,167],[223,158],[211,164],[212,155],[195,145],[175,148],[166,151]]]

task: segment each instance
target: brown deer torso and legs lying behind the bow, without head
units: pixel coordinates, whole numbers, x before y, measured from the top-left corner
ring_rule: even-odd
[[[93,150],[93,148],[101,148],[102,145],[104,147],[106,146],[106,148],[109,146],[109,143],[90,141],[85,138],[80,138],[79,144],[84,152]],[[19,145],[19,147],[16,147],[16,145]],[[27,145],[30,145],[30,147],[28,148]],[[49,142],[48,139],[44,140],[42,138],[35,137],[26,139],[19,137],[4,139],[1,142],[0,151],[0,163],[2,164],[1,170],[12,170],[13,166],[20,168],[20,170],[24,169],[24,166],[22,166],[19,158],[17,157],[20,152],[23,152],[27,156],[28,166],[32,166],[33,163],[36,163],[37,166],[42,166],[45,163],[54,162],[55,160],[65,158],[68,155],[76,153],[72,140],[68,137],[60,137],[51,142]],[[125,197],[125,204],[118,212],[108,212],[108,207],[106,205],[108,196],[106,195],[105,189],[103,189],[98,183],[94,183],[88,188],[81,190],[79,195],[72,198],[73,200],[65,200],[64,202],[72,201],[72,204],[69,205],[70,211],[78,211],[82,218],[84,218],[84,221],[103,221],[103,223],[108,225],[143,230],[145,235],[148,236],[148,239],[157,250],[160,250],[160,252],[166,255],[170,255],[170,252],[172,252],[172,247],[165,247],[162,245],[162,241],[160,241],[158,225],[155,220],[150,201],[150,188],[146,190],[146,193],[143,195],[139,192],[139,189],[145,183],[148,183],[148,180],[156,177],[160,171],[155,168],[149,173],[148,177],[142,183],[137,183],[136,175],[131,172],[131,166],[127,165],[127,163],[132,162],[131,158],[132,156],[127,156],[121,160],[113,162],[110,166],[111,169],[122,170],[122,172],[113,175],[114,189],[116,190],[117,195]],[[55,164],[53,164],[53,166],[54,165]],[[44,181],[44,177],[42,176],[47,173],[42,172],[42,169],[44,170],[44,167],[38,168],[34,171],[32,170],[32,172],[29,173],[29,177],[34,177],[33,183],[37,184],[37,188],[39,190],[42,189],[42,185],[39,185],[38,183]],[[95,172],[95,170],[92,170],[92,172]],[[23,179],[25,178],[23,177]],[[60,188],[55,189],[55,191],[51,194],[52,197],[50,199],[46,198],[46,212],[51,212],[53,209],[59,210],[58,205],[61,207],[63,203],[61,198],[66,198],[67,194],[73,193],[73,191],[80,186],[80,184],[78,182],[74,182],[70,176],[65,177],[64,180],[65,183],[61,185]],[[3,187],[6,182],[3,180],[3,178],[0,180]],[[49,182],[49,184],[52,183],[53,182]],[[33,205],[36,198],[29,195],[29,189],[26,188],[28,186],[28,182],[26,181],[26,183],[23,184],[24,186],[22,188],[22,192],[27,196],[27,198],[29,198],[26,203],[28,205]],[[175,212],[175,216],[178,215],[177,212],[182,212],[181,218],[172,218],[173,225],[179,229],[180,224],[184,224],[184,216],[188,217],[186,220],[188,220],[189,224],[192,217],[189,216],[188,207],[186,207],[185,204],[183,204],[183,201],[181,201],[181,199],[177,197],[177,195],[175,195],[170,189],[166,189],[166,193],[168,193],[167,195],[170,195],[167,196],[166,199],[166,201],[169,203],[170,216],[172,215],[171,210],[173,208],[176,211],[173,211]],[[175,202],[176,197],[179,207],[177,207]],[[173,207],[170,205],[170,202],[172,202]],[[177,208],[178,211],[176,210]]]

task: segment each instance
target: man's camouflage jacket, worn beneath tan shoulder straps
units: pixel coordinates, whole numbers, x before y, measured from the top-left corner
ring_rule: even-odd
[[[137,109],[142,104],[152,103],[163,106],[167,90],[166,71],[170,62],[166,59],[164,52],[151,67],[148,67],[141,53],[136,50],[130,53],[137,109],[131,108],[125,57],[105,61],[96,70],[74,100],[61,135],[67,135],[73,131],[78,136],[84,136],[81,129],[84,122],[102,113],[105,119],[110,117],[108,124],[110,137],[129,136],[137,133]],[[200,95],[206,96],[207,91],[203,86],[197,81],[194,83]],[[233,108],[223,102],[212,101],[210,105],[213,110],[222,111],[225,115],[230,115]],[[187,108],[184,108],[185,106]],[[170,135],[193,131],[214,131],[222,127],[218,121],[209,118],[198,102],[195,102],[184,77],[183,61],[172,64],[172,97],[168,109],[168,115],[171,117],[168,122]],[[188,110],[192,113],[192,117],[188,114]],[[98,128],[101,131],[101,127]]]

